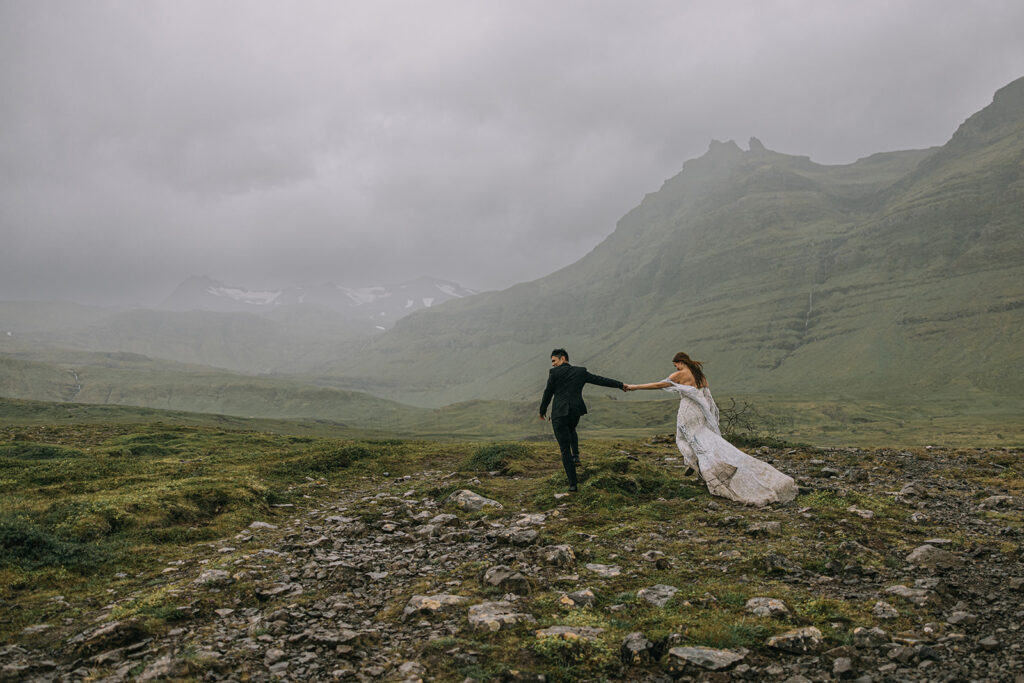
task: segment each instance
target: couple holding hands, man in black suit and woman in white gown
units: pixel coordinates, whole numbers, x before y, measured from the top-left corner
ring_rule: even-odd
[[[708,490],[749,505],[786,503],[797,497],[797,483],[771,465],[746,455],[722,438],[718,405],[712,397],[701,364],[680,351],[672,358],[676,372],[659,382],[625,384],[569,365],[563,348],[551,352],[551,371],[541,399],[540,417],[546,419],[551,409],[551,426],[562,454],[562,467],[569,490],[578,490],[577,465],[580,464],[580,440],[577,426],[587,414],[583,387],[596,384],[623,391],[665,389],[679,394],[676,414],[676,445],[686,465],[692,468]]]

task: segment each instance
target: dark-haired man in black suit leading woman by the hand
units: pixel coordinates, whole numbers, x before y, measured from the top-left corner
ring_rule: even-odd
[[[599,384],[626,391],[626,385],[617,380],[591,375],[586,368],[575,368],[569,365],[569,354],[563,348],[551,352],[551,371],[548,373],[548,386],[544,388],[541,398],[541,419],[548,413],[548,403],[554,396],[555,404],[551,408],[551,428],[562,452],[562,467],[569,479],[569,490],[578,490],[575,466],[580,464],[580,438],[575,428],[580,418],[587,415],[587,405],[583,402],[583,385]]]

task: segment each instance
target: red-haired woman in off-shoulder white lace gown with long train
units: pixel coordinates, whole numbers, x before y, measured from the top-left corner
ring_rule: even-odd
[[[793,477],[722,438],[718,405],[701,364],[682,351],[672,358],[672,364],[676,372],[660,382],[627,384],[625,389],[665,389],[679,394],[676,445],[686,464],[708,484],[708,490],[749,505],[786,503],[796,498],[797,482]]]

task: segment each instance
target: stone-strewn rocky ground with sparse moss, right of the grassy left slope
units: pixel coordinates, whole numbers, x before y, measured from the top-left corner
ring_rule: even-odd
[[[528,473],[353,477],[87,621],[27,628],[0,680],[1024,682],[1020,452],[757,453],[795,503],[691,480],[635,518],[621,495],[602,509],[605,465],[683,476],[656,442],[588,463],[572,496],[524,496]]]

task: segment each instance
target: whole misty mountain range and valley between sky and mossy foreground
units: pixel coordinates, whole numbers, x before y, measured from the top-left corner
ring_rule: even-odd
[[[477,433],[521,437],[539,435],[549,347],[627,381],[662,377],[685,348],[723,396],[784,404],[816,439],[829,421],[900,438],[940,402],[998,422],[1024,401],[1022,112],[1017,80],[942,146],[841,166],[713,141],[583,259],[498,292],[194,276],[153,308],[3,302],[3,392],[406,433],[418,410],[456,403],[464,430],[476,403]],[[634,410],[616,398],[598,422]],[[519,408],[499,428],[488,401]],[[849,415],[829,413],[843,402]],[[366,422],[378,411],[398,417]],[[671,421],[664,401],[648,412]]]

